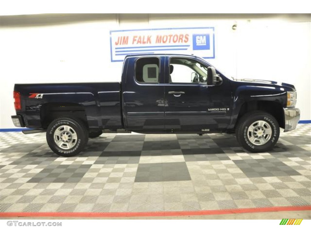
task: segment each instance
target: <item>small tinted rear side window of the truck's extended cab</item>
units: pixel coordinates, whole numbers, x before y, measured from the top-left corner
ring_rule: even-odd
[[[142,57],[136,61],[135,79],[140,83],[159,82],[159,58]]]

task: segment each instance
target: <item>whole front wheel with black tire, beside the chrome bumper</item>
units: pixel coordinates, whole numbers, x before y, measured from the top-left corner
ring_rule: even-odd
[[[280,126],[269,113],[254,111],[246,113],[239,120],[235,134],[238,142],[246,150],[255,153],[266,152],[271,150],[279,139]]]

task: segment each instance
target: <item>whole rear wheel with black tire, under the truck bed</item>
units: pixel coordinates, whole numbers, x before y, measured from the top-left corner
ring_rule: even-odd
[[[54,153],[70,157],[85,148],[88,142],[88,131],[81,121],[71,117],[60,117],[49,124],[46,140]]]

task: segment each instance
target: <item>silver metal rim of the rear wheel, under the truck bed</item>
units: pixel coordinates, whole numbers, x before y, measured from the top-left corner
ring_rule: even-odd
[[[62,149],[68,150],[77,144],[77,133],[70,126],[59,126],[53,135],[55,144]]]

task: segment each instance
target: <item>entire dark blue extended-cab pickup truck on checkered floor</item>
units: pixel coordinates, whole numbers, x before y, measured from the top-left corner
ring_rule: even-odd
[[[178,54],[125,57],[122,82],[16,84],[14,125],[46,131],[58,155],[81,152],[102,132],[235,133],[248,151],[276,144],[300,111],[293,85],[225,77],[205,60]]]

